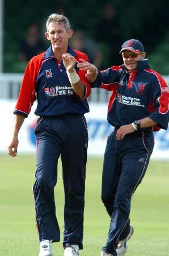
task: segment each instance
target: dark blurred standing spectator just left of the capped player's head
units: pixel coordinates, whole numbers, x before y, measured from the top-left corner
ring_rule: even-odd
[[[96,23],[95,33],[95,39],[100,43],[103,53],[108,56],[104,61],[104,67],[111,65],[112,61],[120,65],[121,59],[118,54],[121,46],[119,20],[117,10],[112,3],[107,3],[104,6],[103,16]]]

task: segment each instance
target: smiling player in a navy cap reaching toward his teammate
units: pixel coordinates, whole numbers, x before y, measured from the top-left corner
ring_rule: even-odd
[[[124,64],[104,71],[87,61],[78,64],[87,70],[92,87],[112,91],[108,122],[115,127],[104,154],[102,201],[111,222],[102,256],[123,256],[133,234],[130,204],[145,175],[154,147],[153,131],[168,127],[168,85],[150,69],[143,44],[131,39],[122,44]]]

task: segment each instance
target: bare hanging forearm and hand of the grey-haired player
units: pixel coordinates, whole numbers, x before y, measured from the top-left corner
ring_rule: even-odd
[[[15,157],[17,155],[17,148],[18,148],[18,143],[19,143],[18,133],[19,133],[20,127],[23,124],[24,119],[25,119],[24,115],[15,114],[13,135],[12,135],[11,143],[9,144],[9,146],[7,148],[8,154],[13,157]]]

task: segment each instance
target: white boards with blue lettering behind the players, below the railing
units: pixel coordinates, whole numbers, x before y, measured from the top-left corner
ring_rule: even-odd
[[[12,135],[14,122],[15,100],[0,100],[1,126],[0,126],[0,154],[6,152]],[[88,155],[103,156],[108,135],[113,127],[107,122],[107,104],[89,103],[90,112],[85,114],[88,127]],[[29,117],[25,119],[19,133],[18,154],[23,152],[36,153],[36,140],[34,130],[37,116],[33,114],[36,103],[33,104]],[[169,129],[154,133],[155,147],[152,158],[169,160]]]

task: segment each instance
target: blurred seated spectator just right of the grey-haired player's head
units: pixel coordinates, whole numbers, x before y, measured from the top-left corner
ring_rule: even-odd
[[[96,65],[98,68],[102,65],[102,52],[98,44],[88,38],[82,30],[75,30],[73,36],[70,40],[70,45],[73,49],[78,49],[78,51],[86,52],[90,62]]]

